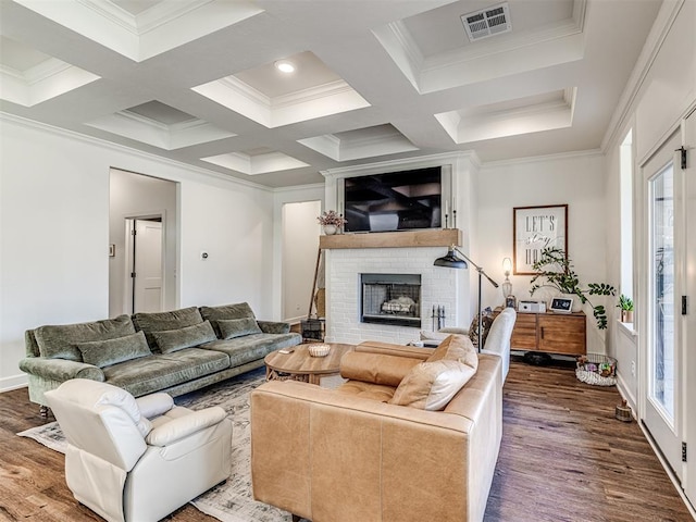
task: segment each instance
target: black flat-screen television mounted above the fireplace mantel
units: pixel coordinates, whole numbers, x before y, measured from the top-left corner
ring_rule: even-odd
[[[346,232],[442,227],[442,166],[344,179]]]

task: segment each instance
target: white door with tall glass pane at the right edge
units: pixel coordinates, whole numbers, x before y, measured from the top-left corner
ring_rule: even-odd
[[[646,353],[644,423],[674,474],[683,477],[683,365],[680,324],[683,295],[684,202],[683,173],[675,152],[675,133],[644,165],[646,321],[642,327]]]

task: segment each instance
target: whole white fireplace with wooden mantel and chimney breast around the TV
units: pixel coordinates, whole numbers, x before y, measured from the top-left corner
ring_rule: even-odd
[[[456,152],[405,158],[378,163],[351,165],[322,171],[325,177],[325,208],[343,213],[339,181],[408,169],[440,165],[445,208],[457,210],[449,222],[455,229],[421,232],[346,234],[322,236],[326,275],[326,340],[360,343],[384,340],[406,344],[419,338],[421,330],[432,330],[433,306],[444,307],[447,326],[469,325],[475,300],[470,283],[475,271],[434,266],[435,259],[447,253],[447,246],[456,244],[469,253],[477,212],[473,198],[478,160],[473,152]],[[453,237],[452,235],[453,234]],[[439,236],[438,236],[439,235]],[[463,240],[463,236],[467,240]],[[352,239],[350,236],[356,236]],[[361,236],[372,236],[370,239]],[[435,240],[431,240],[436,236]],[[411,240],[412,239],[412,240]],[[345,245],[345,241],[355,241]],[[344,243],[344,245],[339,245]],[[365,244],[370,244],[366,245]],[[421,324],[419,327],[360,322],[360,274],[420,274]]]

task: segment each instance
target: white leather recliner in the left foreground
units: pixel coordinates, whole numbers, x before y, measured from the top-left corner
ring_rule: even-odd
[[[232,422],[220,407],[192,411],[83,378],[46,397],[70,443],[67,487],[108,521],[156,522],[229,476]]]

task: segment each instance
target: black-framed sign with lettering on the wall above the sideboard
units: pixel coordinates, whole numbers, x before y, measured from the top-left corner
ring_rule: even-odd
[[[547,247],[568,256],[568,204],[512,209],[512,252],[515,275],[533,275],[532,268]]]

